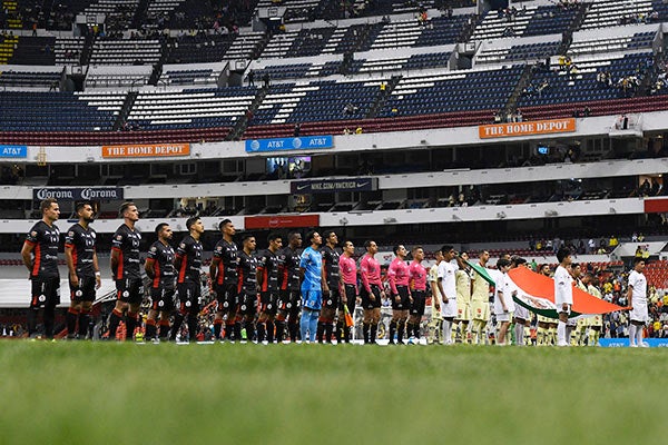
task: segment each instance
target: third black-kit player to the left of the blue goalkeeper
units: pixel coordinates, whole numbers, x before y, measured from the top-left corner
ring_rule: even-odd
[[[255,315],[257,314],[257,258],[253,255],[256,241],[250,234],[242,238],[242,251],[239,251],[239,267],[237,271],[237,293],[239,295],[238,314],[240,323],[246,329],[246,339],[253,342],[255,338]],[[244,340],[242,339],[242,343]]]

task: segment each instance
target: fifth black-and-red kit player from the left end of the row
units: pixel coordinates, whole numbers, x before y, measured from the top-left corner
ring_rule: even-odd
[[[199,299],[202,297],[202,234],[204,224],[194,216],[186,220],[188,235],[181,239],[176,248],[174,267],[177,270],[176,288],[178,293],[179,310],[174,317],[174,328],[170,338],[176,340],[184,318],[187,316],[188,340],[197,340],[197,316],[199,315]]]

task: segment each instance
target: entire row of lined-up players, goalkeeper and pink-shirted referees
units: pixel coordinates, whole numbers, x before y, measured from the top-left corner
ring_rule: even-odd
[[[47,199],[42,201],[41,210],[42,220],[28,234],[21,254],[32,280],[29,334],[35,333],[37,310],[43,307],[45,334],[52,337],[53,310],[59,304],[60,283],[60,234],[55,225],[59,217],[58,202]],[[70,337],[75,337],[77,325],[79,336],[85,336],[95,290],[100,286],[100,270],[95,250],[96,233],[90,227],[95,212],[87,202],[77,204],[76,212],[79,221],[70,227],[65,243],[71,299],[67,314]],[[139,250],[141,234],[135,228],[139,214],[132,202],[125,202],[119,214],[124,224],[112,237],[110,265],[117,288],[117,303],[109,317],[109,337],[116,336],[120,322],[125,320],[126,338],[129,339],[139,323],[139,308],[144,299]],[[151,299],[146,320],[147,339],[176,339],[184,320],[187,320],[189,333],[197,332],[202,289],[200,237],[204,226],[199,218],[194,217],[186,221],[186,227],[188,235],[180,240],[176,249],[171,247],[173,231],[169,225],[164,222],[156,227],[158,240],[150,246],[144,266],[150,278]],[[254,236],[245,234],[242,238],[242,249],[238,249],[233,240],[236,231],[232,221],[223,220],[219,229],[223,238],[214,248],[209,268],[212,293],[217,299],[215,338],[220,338],[224,333],[227,339],[242,339],[242,330],[245,329],[246,338],[266,343],[279,342],[286,334],[292,340],[296,340],[301,335],[301,338],[311,342],[326,342],[334,334],[338,342],[350,342],[351,332],[343,316],[344,305],[352,314],[358,301],[363,309],[364,343],[375,343],[381,305],[386,296],[381,278],[381,265],[375,259],[377,245],[374,241],[365,243],[366,254],[360,260],[357,274],[353,244],[346,240],[342,251],[338,251],[338,239],[334,231],[324,233],[324,246],[317,231],[308,233],[308,247],[303,251],[299,233],[289,233],[285,247],[282,237],[272,234],[268,237],[268,248],[254,255]],[[479,267],[485,268],[497,283],[493,304],[490,305],[490,286],[479,274],[473,273],[465,253],[458,256],[452,246],[443,246],[435,253],[436,264],[429,271],[422,265],[422,247],[412,249],[413,260],[410,265],[406,264],[407,250],[403,245],[396,246],[394,254],[396,257],[387,269],[386,279],[392,304],[389,329],[391,344],[403,343],[404,335],[409,338],[420,338],[420,323],[430,293],[433,298],[429,342],[452,344],[459,335],[460,342],[485,343],[487,324],[492,309],[498,330],[495,342],[507,343],[508,329],[512,322],[515,343],[525,343],[531,315],[521,305],[514,304],[512,294],[518,289],[512,288],[512,281],[504,278],[512,267],[525,267],[524,259],[504,256],[497,261],[497,268],[491,269],[488,268],[489,253],[481,253]],[[563,294],[559,293],[559,284],[562,283],[568,283],[568,288],[574,284],[601,298],[596,277],[590,273],[582,274],[580,266],[572,264],[570,253],[558,253],[558,298]],[[631,274],[632,279],[629,283],[629,300],[636,306],[636,310],[631,313],[631,330],[635,338],[638,332],[642,334],[640,325],[647,319],[647,315],[642,317],[642,301],[639,299],[639,295],[644,295],[642,283],[646,287],[644,265],[644,261],[637,261],[636,275]],[[539,271],[550,276],[547,265]],[[560,276],[564,273],[569,279]],[[176,299],[179,307],[174,315],[174,325],[170,325]],[[562,313],[567,314],[566,310]],[[538,317],[538,345],[563,344],[566,338],[571,338],[573,344],[598,343],[602,327],[601,316],[580,320],[578,324],[569,320],[567,316],[561,318],[563,319],[557,322]],[[564,325],[563,332],[561,324]],[[194,339],[195,336],[190,335],[190,338]],[[641,337],[631,344],[642,345]]]

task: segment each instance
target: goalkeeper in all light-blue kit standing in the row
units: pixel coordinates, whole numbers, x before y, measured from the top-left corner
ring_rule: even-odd
[[[310,246],[304,249],[299,259],[299,271],[303,277],[299,328],[302,342],[308,339],[310,343],[314,343],[317,318],[323,305],[323,256],[318,251],[323,244],[323,237],[317,231],[311,230],[306,234],[306,240]]]

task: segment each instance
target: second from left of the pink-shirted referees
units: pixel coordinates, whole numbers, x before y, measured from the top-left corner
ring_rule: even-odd
[[[379,246],[375,241],[367,240],[364,243],[366,255],[360,261],[360,275],[362,277],[362,307],[364,316],[362,319],[362,333],[364,335],[364,344],[376,344],[376,334],[379,322],[381,320],[381,303],[385,298],[383,283],[381,281],[381,265],[374,258],[379,251]]]

